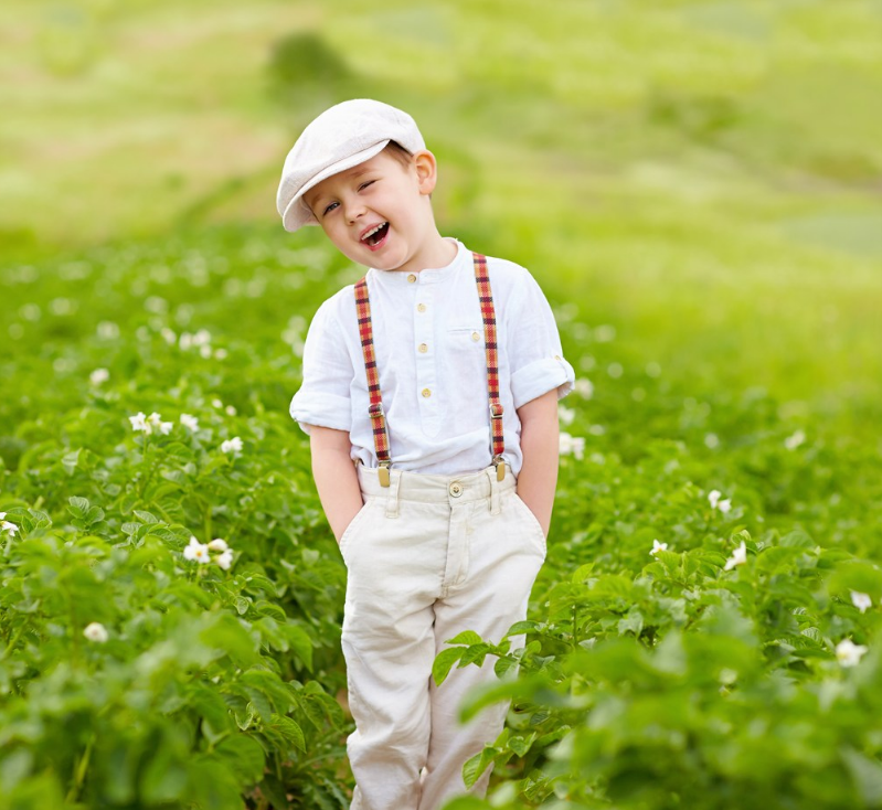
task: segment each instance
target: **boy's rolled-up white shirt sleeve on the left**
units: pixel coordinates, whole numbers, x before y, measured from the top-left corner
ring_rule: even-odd
[[[304,344],[304,382],[294,395],[290,415],[304,433],[310,425],[337,430],[352,429],[350,386],[352,361],[343,342],[334,299],[319,307]]]

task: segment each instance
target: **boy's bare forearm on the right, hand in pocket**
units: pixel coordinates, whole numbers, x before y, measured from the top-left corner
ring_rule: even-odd
[[[523,454],[523,466],[518,476],[518,494],[548,536],[554,489],[557,486],[557,390],[553,388],[524,403],[518,408],[518,416],[521,420]]]

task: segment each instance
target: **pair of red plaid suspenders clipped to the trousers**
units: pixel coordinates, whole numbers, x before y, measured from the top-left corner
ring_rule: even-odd
[[[506,443],[502,435],[502,403],[499,401],[499,344],[496,337],[496,312],[493,296],[490,291],[490,276],[487,273],[487,258],[479,253],[472,254],[475,260],[475,281],[478,285],[478,298],[481,303],[483,320],[483,344],[487,351],[487,398],[490,405],[490,433],[492,436],[493,466],[496,477],[501,481],[506,477],[506,462],[502,454]],[[373,427],[373,443],[379,463],[380,483],[389,487],[389,468],[392,460],[389,455],[389,433],[386,417],[383,412],[383,398],[380,394],[380,374],[376,370],[376,356],[373,351],[373,328],[371,327],[371,303],[368,298],[368,283],[362,278],[355,285],[355,312],[359,319],[361,351],[364,355],[364,370],[368,374],[368,396],[370,405],[368,415]]]

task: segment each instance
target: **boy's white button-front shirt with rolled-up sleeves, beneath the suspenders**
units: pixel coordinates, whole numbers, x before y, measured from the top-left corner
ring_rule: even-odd
[[[492,461],[487,358],[471,252],[458,239],[446,267],[419,273],[370,269],[374,352],[393,469],[466,475]],[[575,382],[545,296],[530,273],[487,257],[499,344],[504,460],[517,476],[523,456],[517,409]],[[304,345],[304,381],[290,415],[347,430],[351,457],[376,467],[368,416],[368,375],[355,317],[354,285],[325,301]]]

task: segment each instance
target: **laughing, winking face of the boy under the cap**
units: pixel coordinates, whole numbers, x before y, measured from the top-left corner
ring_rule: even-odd
[[[437,238],[428,199],[435,182],[432,152],[416,152],[405,166],[383,150],[322,180],[304,201],[353,262],[379,270],[421,269],[421,255]]]

